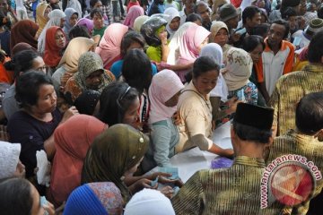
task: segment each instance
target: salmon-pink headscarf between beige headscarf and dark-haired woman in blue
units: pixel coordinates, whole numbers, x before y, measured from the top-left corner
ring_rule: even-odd
[[[105,69],[109,69],[114,62],[121,59],[121,40],[128,29],[126,25],[112,23],[104,31],[103,38],[100,40],[100,45],[96,47],[95,52],[102,58]]]

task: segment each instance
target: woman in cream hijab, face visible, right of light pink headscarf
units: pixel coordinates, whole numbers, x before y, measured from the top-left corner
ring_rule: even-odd
[[[228,43],[229,41],[229,30],[227,25],[221,21],[214,21],[211,25],[211,34],[209,36],[210,43],[217,43],[223,49],[223,60],[225,60],[227,52],[231,48]],[[222,62],[223,63],[223,62]],[[222,64],[221,63],[221,64]]]

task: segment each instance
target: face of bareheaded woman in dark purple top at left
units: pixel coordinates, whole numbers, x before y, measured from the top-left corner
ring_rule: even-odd
[[[42,84],[39,87],[39,98],[33,112],[47,114],[53,112],[57,107],[57,94],[51,84]]]

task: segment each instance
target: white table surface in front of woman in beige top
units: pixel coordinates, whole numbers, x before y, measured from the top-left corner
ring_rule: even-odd
[[[230,138],[230,125],[228,122],[214,130],[213,141],[224,149],[232,148]],[[173,167],[179,168],[179,177],[185,183],[190,176],[200,169],[210,168],[211,160],[217,155],[208,151],[199,150],[198,147],[181,152],[170,159]],[[158,167],[152,172],[158,171]]]

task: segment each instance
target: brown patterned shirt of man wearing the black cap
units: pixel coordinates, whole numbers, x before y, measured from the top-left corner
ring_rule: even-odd
[[[264,159],[238,156],[231,168],[200,170],[171,199],[180,214],[262,214],[260,183]],[[279,209],[271,214],[279,214]],[[269,214],[269,213],[268,213]]]

